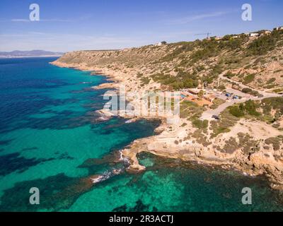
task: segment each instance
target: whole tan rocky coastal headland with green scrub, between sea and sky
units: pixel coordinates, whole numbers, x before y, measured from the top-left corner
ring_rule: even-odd
[[[182,100],[178,122],[167,124],[162,117],[156,136],[134,141],[122,155],[129,159],[130,171],[145,169],[137,154],[146,151],[265,174],[272,188],[283,189],[282,53],[283,32],[274,31],[256,38],[226,35],[221,40],[69,52],[52,64],[104,74],[112,81],[96,89],[122,84],[129,93],[204,87],[238,91],[243,95],[238,102],[216,98],[213,105],[200,106]],[[214,109],[221,109],[217,120]]]

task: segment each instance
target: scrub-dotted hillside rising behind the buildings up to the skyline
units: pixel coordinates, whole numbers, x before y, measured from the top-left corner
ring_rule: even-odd
[[[71,52],[64,54],[59,62],[136,71],[137,81],[158,81],[174,90],[194,88],[202,83],[213,86],[222,74],[252,88],[280,92],[283,91],[282,53],[283,31],[275,30],[260,37],[226,35],[221,40]]]

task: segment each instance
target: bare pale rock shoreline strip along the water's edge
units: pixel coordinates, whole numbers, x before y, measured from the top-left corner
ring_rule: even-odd
[[[65,63],[64,59],[57,59],[51,64],[59,67],[67,67],[79,69],[82,71],[93,71],[107,75],[113,81],[112,83],[105,83],[98,85],[95,89],[117,88],[119,84],[124,84],[126,91],[138,92],[136,81],[139,69],[127,69],[125,67],[118,69],[111,69],[107,66],[89,66],[85,63],[69,64]],[[116,65],[117,66],[117,65]],[[136,76],[136,77],[135,77]],[[158,83],[144,85],[142,90],[150,90],[152,87],[160,88]],[[134,100],[127,100],[129,102]],[[105,113],[105,112],[100,112]],[[105,113],[107,115],[107,112]],[[109,114],[107,115],[109,117]],[[131,117],[129,117],[131,118]],[[139,117],[136,117],[139,118]],[[141,117],[152,119],[152,117]],[[193,133],[196,129],[191,124],[187,124],[185,119],[180,119],[178,124],[166,124],[166,117],[157,117],[162,120],[161,126],[156,129],[158,133],[156,136],[148,138],[141,138],[122,150],[123,158],[129,160],[129,172],[140,172],[145,169],[139,164],[137,154],[141,152],[149,152],[154,155],[169,158],[178,158],[184,161],[195,161],[205,165],[218,165],[224,169],[236,169],[243,174],[256,176],[265,175],[270,180],[270,186],[273,189],[283,189],[283,162],[275,160],[274,157],[267,157],[265,150],[260,150],[251,155],[245,155],[239,149],[236,152],[221,153],[217,151],[212,145],[203,145],[190,141],[187,138],[188,133]],[[187,124],[187,126],[183,126]],[[213,142],[224,143],[223,137],[215,138]],[[271,154],[270,154],[271,155]]]

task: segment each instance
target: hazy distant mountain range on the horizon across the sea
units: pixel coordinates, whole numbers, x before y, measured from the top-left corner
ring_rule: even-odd
[[[15,50],[12,52],[0,52],[0,58],[13,58],[13,57],[59,57],[64,53],[62,52],[50,52],[44,50],[30,50],[30,51],[19,51]]]

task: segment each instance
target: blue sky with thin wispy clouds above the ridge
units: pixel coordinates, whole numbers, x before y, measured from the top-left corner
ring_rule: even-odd
[[[40,21],[30,21],[30,4]],[[241,6],[253,20],[241,19]],[[166,40],[272,29],[283,25],[282,0],[1,0],[0,51],[120,49]]]

